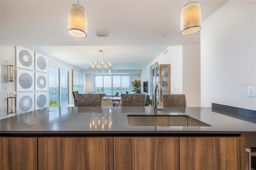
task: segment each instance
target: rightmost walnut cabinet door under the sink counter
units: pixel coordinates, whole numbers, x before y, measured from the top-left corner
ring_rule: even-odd
[[[244,170],[242,137],[180,137],[180,170]]]

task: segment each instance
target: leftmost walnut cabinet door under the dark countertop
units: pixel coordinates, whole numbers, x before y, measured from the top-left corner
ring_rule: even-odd
[[[1,137],[1,170],[37,170],[37,138]]]

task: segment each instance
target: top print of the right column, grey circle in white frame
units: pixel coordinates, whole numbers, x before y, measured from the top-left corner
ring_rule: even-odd
[[[35,70],[48,72],[48,57],[36,52],[35,57]]]

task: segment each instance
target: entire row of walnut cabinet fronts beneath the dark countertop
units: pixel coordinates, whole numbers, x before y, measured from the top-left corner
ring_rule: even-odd
[[[1,170],[244,170],[244,137],[1,137]]]

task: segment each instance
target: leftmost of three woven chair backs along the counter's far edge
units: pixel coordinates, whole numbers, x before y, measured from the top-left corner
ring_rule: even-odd
[[[102,94],[78,94],[77,105],[75,106],[101,106]]]

